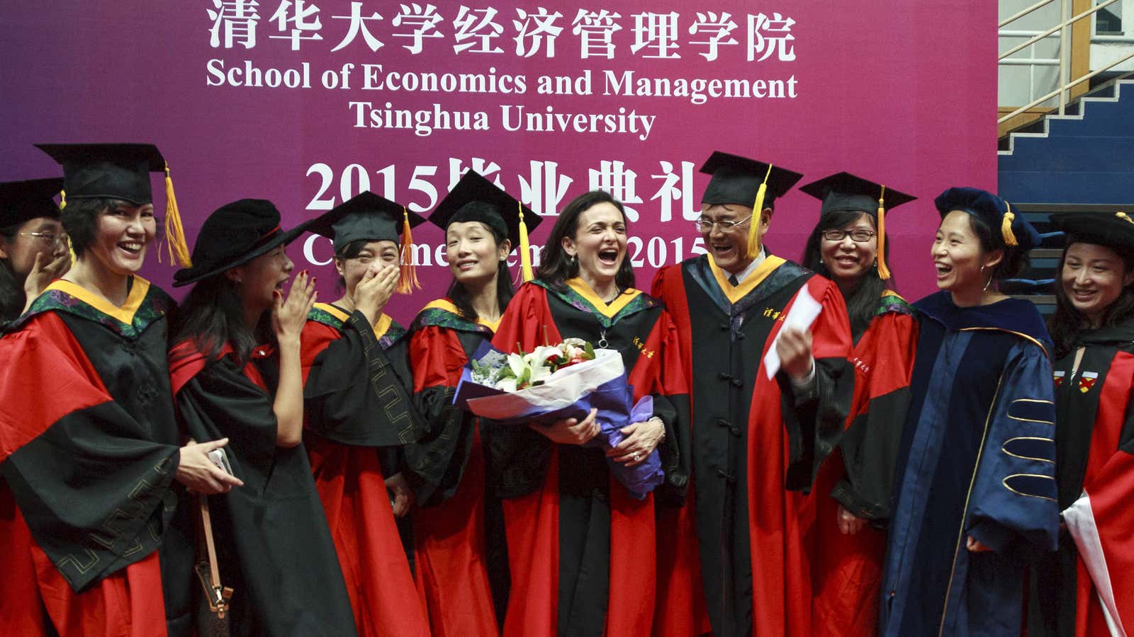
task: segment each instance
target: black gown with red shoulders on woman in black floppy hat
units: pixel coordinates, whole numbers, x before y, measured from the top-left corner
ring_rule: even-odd
[[[196,440],[228,438],[244,486],[211,495],[221,581],[236,635],[355,635],[342,572],[303,444],[277,447],[278,357],[260,346],[243,367],[231,349],[205,360],[189,341],[170,353],[178,416]]]

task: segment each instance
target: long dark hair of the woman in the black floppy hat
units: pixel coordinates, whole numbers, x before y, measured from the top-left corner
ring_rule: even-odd
[[[236,350],[237,360],[244,365],[256,346],[274,339],[269,329],[270,315],[271,311],[265,311],[256,329],[249,329],[244,322],[244,304],[236,283],[222,272],[197,281],[189,290],[185,301],[174,312],[170,342],[192,340],[206,360],[220,356],[225,343],[229,343]]]

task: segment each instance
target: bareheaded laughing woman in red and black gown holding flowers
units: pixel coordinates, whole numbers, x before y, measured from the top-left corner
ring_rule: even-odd
[[[679,444],[688,398],[669,315],[633,288],[626,238],[623,206],[607,193],[567,204],[538,279],[519,289],[492,341],[515,353],[575,337],[617,350],[634,399],[654,398],[654,415],[624,427],[626,439],[613,449],[587,445],[600,430],[593,410],[552,425],[492,430],[511,566],[505,635],[650,632],[654,494],[631,495],[612,479],[607,458],[636,466],[658,450],[666,470],[658,494],[679,502],[688,479]]]

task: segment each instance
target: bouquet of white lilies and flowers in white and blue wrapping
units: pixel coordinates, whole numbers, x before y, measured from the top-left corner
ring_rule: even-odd
[[[599,435],[587,445],[608,449],[623,441],[623,427],[653,415],[651,397],[634,402],[634,388],[618,350],[594,349],[575,338],[519,354],[505,354],[482,343],[462,373],[454,404],[503,423],[583,419],[594,408]],[[663,479],[657,450],[633,467],[610,458],[607,464],[638,500]]]

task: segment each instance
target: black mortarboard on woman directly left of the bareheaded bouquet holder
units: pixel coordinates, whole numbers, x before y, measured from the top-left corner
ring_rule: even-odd
[[[457,181],[449,195],[430,214],[431,223],[446,230],[450,223],[480,221],[508,237],[511,247],[519,247],[519,210],[524,211],[524,224],[531,232],[543,221],[539,214],[505,193],[499,186],[480,173],[469,170]]]

